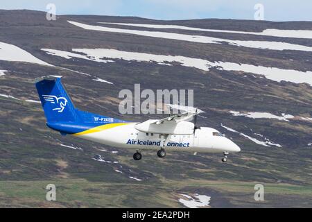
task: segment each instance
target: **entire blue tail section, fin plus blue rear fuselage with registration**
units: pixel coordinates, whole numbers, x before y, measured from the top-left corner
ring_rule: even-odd
[[[62,135],[80,133],[109,123],[125,123],[120,119],[76,109],[60,78],[40,80],[36,87],[46,115],[46,125]]]

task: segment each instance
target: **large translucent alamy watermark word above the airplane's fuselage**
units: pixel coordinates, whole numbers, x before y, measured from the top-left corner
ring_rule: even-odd
[[[193,89],[144,89],[135,84],[134,93],[130,89],[122,89],[118,95],[123,99],[119,103],[121,114],[177,114],[178,109],[170,110],[167,104],[180,105],[180,107],[193,108]]]

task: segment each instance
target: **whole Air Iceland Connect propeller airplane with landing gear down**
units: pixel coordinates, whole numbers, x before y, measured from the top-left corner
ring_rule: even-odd
[[[46,117],[46,126],[61,135],[136,150],[134,160],[141,160],[140,151],[155,150],[161,158],[166,156],[166,151],[223,153],[221,160],[226,162],[229,152],[241,151],[218,130],[196,126],[197,110],[172,114],[164,119],[129,122],[78,110],[62,85],[61,78],[37,78],[35,86]]]

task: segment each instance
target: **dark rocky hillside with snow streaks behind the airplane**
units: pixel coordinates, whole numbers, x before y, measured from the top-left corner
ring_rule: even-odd
[[[0,10],[0,207],[311,207],[311,33],[312,22],[47,21]],[[162,115],[122,116],[121,89],[193,89],[200,126],[242,151],[226,163],[170,152],[135,161],[132,151],[63,137],[37,102],[33,79],[46,75],[62,76],[81,110],[129,121]],[[264,201],[254,200],[258,183]]]

